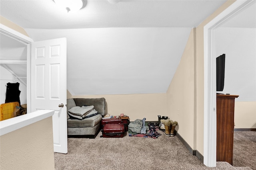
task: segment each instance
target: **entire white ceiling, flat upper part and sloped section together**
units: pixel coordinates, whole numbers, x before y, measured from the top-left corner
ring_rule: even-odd
[[[88,0],[66,13],[52,0],[1,0],[0,15],[34,41],[67,38],[72,95],[165,93],[191,29],[224,2]]]

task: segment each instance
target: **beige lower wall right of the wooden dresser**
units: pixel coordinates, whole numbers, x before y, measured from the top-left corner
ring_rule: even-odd
[[[256,128],[256,102],[235,102],[235,129]]]

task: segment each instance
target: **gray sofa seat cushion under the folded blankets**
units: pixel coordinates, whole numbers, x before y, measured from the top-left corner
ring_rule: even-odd
[[[68,119],[68,127],[94,127],[100,123],[102,115],[98,114],[83,120]]]

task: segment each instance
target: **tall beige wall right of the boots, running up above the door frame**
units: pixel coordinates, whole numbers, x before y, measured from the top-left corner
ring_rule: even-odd
[[[204,26],[234,2],[228,0],[196,27],[194,32],[191,31],[167,92],[167,114],[171,119],[178,121],[178,133],[192,149],[198,150],[202,155],[204,154]]]

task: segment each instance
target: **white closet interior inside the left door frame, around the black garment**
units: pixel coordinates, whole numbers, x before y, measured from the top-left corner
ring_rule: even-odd
[[[27,44],[1,33],[0,103],[5,103],[6,84],[19,83],[20,104],[27,104]]]

